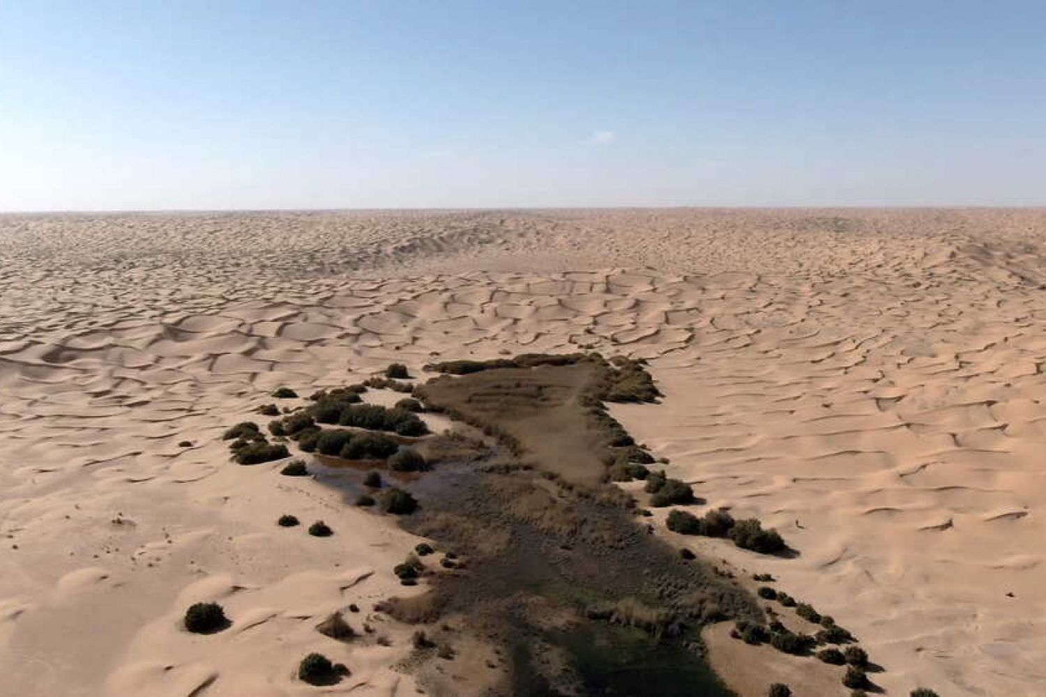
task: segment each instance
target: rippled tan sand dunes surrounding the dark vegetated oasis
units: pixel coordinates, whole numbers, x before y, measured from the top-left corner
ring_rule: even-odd
[[[888,694],[1042,695],[1044,240],[1042,210],[0,216],[0,694],[315,694],[348,603],[390,646],[323,694],[415,694],[369,608],[417,540],[222,431],[277,386],[591,348],[650,358],[663,403],[615,416],[799,556],[675,543],[834,615]]]

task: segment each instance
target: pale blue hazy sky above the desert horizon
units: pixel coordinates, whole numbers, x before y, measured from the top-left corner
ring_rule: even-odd
[[[955,204],[1046,3],[0,0],[0,210]]]

